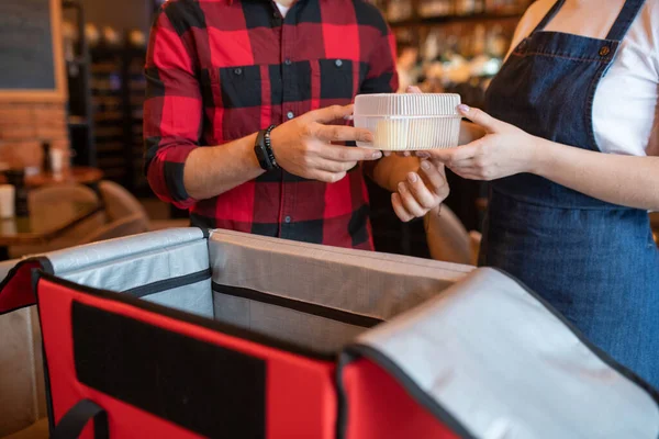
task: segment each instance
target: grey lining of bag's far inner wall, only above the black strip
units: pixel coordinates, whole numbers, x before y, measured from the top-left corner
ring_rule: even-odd
[[[209,240],[213,282],[387,320],[473,267],[327,248],[222,230]]]

